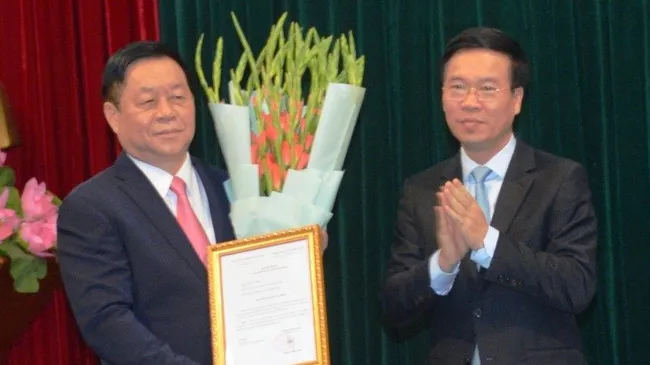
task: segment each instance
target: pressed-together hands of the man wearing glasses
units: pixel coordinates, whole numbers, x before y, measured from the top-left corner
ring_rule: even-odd
[[[447,181],[436,193],[436,240],[440,268],[452,272],[467,251],[483,247],[488,222],[481,207],[458,179]]]

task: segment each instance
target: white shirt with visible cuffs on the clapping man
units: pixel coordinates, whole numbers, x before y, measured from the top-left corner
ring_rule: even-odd
[[[484,166],[487,166],[492,170],[490,174],[485,179],[485,188],[488,194],[488,205],[490,207],[490,219],[492,219],[492,214],[494,213],[494,207],[496,205],[497,198],[499,197],[499,192],[501,191],[501,186],[503,185],[503,178],[506,175],[512,156],[515,153],[515,146],[517,145],[517,140],[514,135],[510,136],[508,143],[494,156],[490,161],[488,161]],[[479,166],[478,163],[473,161],[467,155],[464,148],[460,150],[460,162],[463,171],[463,184],[470,192],[472,197],[476,196],[476,181],[472,177],[471,173]],[[497,241],[499,240],[499,231],[490,226],[488,227],[488,232],[483,240],[484,247],[480,250],[472,250],[470,258],[472,261],[476,262],[478,267],[489,268],[492,257],[494,256],[494,251],[497,247]],[[458,268],[460,264],[457,264],[453,272],[446,273],[440,268],[439,262],[440,249],[431,256],[429,260],[429,276],[431,277],[431,288],[438,295],[447,295],[451,288],[454,285],[454,280],[456,275],[458,275]]]

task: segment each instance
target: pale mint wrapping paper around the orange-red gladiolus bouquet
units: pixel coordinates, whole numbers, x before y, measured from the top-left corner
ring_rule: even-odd
[[[251,163],[249,108],[210,104],[230,175],[224,187],[238,239],[311,224],[327,225],[364,95],[361,87],[328,85],[307,168],[289,170],[282,192],[268,197],[260,196],[258,166]]]

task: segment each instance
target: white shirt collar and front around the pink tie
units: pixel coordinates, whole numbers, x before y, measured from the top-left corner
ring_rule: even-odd
[[[131,158],[140,171],[142,171],[142,173],[147,177],[154,189],[156,189],[158,194],[163,198],[169,210],[174,216],[176,216],[176,194],[170,190],[174,176],[159,167],[140,161],[131,155],[127,156]],[[205,193],[205,188],[203,187],[201,179],[196,173],[194,166],[192,166],[192,160],[190,159],[189,154],[187,154],[185,162],[183,162],[183,165],[176,173],[176,176],[180,177],[185,182],[187,198],[194,210],[194,214],[196,214],[203,230],[208,236],[208,240],[210,243],[216,242],[208,197]]]

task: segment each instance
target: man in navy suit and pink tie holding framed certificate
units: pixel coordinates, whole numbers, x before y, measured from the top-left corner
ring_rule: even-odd
[[[208,244],[234,234],[226,174],[188,154],[187,80],[180,56],[157,42],[109,59],[104,115],[124,152],[59,212],[65,290],[103,364],[212,364],[204,261]]]

